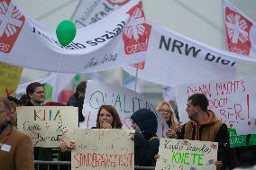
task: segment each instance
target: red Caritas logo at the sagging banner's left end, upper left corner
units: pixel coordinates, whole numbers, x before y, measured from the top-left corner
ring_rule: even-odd
[[[11,51],[24,22],[23,13],[11,3],[11,0],[0,0],[0,51]]]

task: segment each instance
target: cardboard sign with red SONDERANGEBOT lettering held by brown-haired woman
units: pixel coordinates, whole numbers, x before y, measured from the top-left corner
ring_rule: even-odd
[[[134,142],[131,130],[73,131],[77,147],[71,152],[71,169],[134,169]]]

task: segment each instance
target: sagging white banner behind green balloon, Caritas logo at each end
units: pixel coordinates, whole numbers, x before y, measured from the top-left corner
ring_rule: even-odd
[[[104,20],[77,31],[66,47],[55,31],[22,13],[11,0],[0,3],[0,61],[45,71],[96,72],[145,59],[151,26],[142,2],[133,0]]]

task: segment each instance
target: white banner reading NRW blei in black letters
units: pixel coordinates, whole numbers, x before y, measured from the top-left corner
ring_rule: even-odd
[[[152,24],[147,60],[144,69],[139,69],[138,77],[169,86],[224,79],[234,77],[238,59],[256,61],[208,47]],[[135,75],[136,68],[123,68]]]

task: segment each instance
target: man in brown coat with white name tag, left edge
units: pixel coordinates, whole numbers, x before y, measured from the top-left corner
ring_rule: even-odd
[[[0,169],[33,170],[32,140],[11,124],[12,104],[0,97]]]

